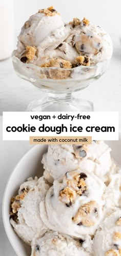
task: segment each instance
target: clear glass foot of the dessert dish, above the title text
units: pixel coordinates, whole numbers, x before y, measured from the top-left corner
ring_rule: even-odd
[[[66,95],[49,94],[49,97],[32,101],[27,111],[94,111],[93,103],[75,98],[68,93]]]

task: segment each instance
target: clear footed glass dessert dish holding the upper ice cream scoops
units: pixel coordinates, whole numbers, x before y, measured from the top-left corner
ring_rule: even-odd
[[[40,89],[40,100],[28,105],[27,111],[93,111],[93,103],[75,98],[73,92],[85,89],[102,76],[109,68],[110,60],[94,66],[78,66],[71,69],[42,68],[32,63],[23,63],[12,55],[16,74]],[[46,98],[41,91],[47,92]]]

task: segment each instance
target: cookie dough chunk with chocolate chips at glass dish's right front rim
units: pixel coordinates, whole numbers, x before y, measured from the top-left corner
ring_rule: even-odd
[[[72,68],[76,68],[79,66],[87,66],[90,67],[90,57],[84,55],[84,56],[78,56],[76,57],[75,61],[72,63]]]

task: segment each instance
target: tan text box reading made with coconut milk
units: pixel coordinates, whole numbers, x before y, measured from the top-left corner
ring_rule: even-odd
[[[52,144],[92,144],[92,137],[90,136],[30,136],[29,138],[30,145],[33,144],[45,144],[45,145],[52,145]]]

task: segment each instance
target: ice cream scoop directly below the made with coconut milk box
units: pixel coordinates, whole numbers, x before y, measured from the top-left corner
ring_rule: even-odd
[[[53,183],[67,171],[78,168],[78,159],[74,156],[72,145],[49,145],[48,152],[43,155],[44,177]]]

